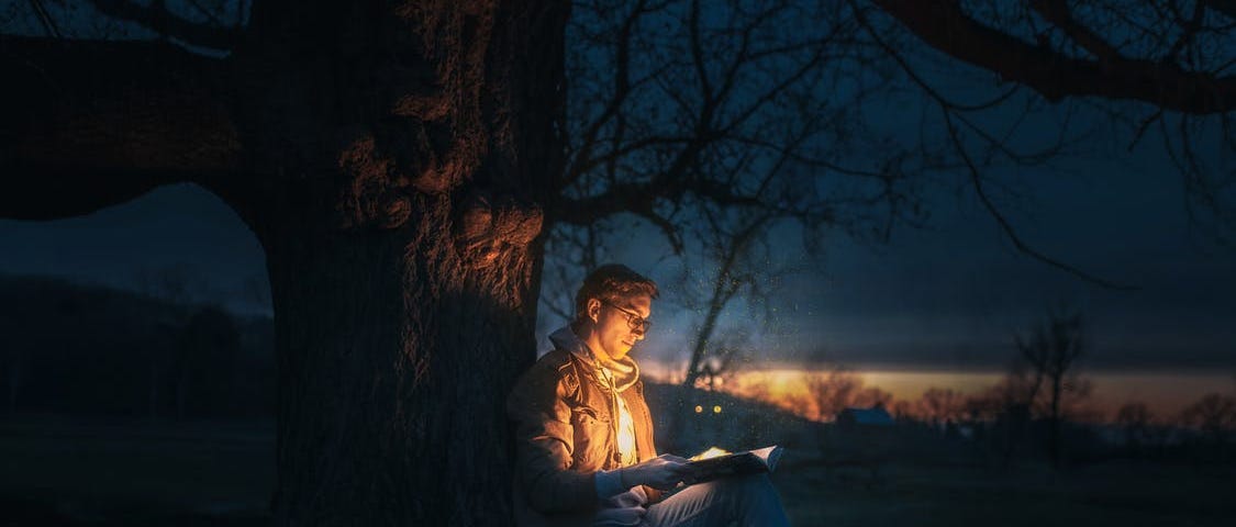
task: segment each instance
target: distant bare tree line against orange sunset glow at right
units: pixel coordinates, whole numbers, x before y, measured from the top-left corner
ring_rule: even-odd
[[[1107,457],[1236,460],[1236,391],[1206,394],[1173,415],[1154,415],[1146,402],[1128,401],[1105,416],[1086,405],[1091,384],[1078,370],[1089,346],[1079,311],[1052,310],[1014,343],[1016,354],[1004,379],[978,392],[933,386],[918,399],[896,400],[865,385],[860,374],[834,365],[808,374],[800,391],[755,385],[742,395],[823,422],[847,409],[883,409],[896,420],[895,433],[902,438],[921,442],[925,431],[964,437],[1001,469],[1027,458],[1056,467]]]

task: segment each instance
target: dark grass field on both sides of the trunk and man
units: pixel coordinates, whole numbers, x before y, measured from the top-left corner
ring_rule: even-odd
[[[0,423],[0,525],[263,525],[274,431],[261,422]],[[790,450],[774,475],[797,526],[1227,526],[1230,468],[1110,463],[828,469]]]

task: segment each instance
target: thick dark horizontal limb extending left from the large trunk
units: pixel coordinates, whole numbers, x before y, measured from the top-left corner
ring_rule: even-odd
[[[2,217],[89,214],[239,164],[219,60],[156,42],[0,37],[0,179],[23,189],[0,193]]]

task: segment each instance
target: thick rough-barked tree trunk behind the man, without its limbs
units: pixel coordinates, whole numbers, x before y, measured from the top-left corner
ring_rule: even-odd
[[[253,15],[288,38],[324,28],[287,59],[335,58],[309,67],[332,84],[288,79],[246,114],[281,152],[260,168],[290,178],[229,199],[271,276],[276,523],[506,526],[504,401],[535,358],[566,7],[389,9],[334,6],[309,30]]]

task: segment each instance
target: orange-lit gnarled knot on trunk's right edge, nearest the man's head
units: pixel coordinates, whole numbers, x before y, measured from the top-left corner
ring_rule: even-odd
[[[493,205],[476,197],[456,222],[455,244],[467,265],[492,265],[503,252],[524,249],[541,231],[544,212],[514,200]]]

